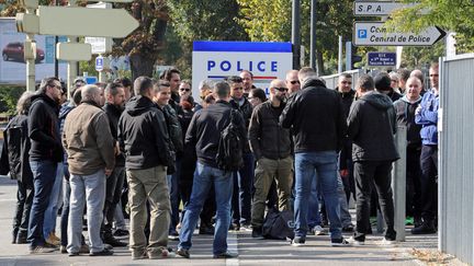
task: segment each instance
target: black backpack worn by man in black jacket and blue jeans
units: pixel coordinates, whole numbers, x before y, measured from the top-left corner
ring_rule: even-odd
[[[229,124],[222,130],[216,154],[217,167],[224,171],[237,171],[244,165],[244,136],[237,127],[237,111],[230,111]]]

